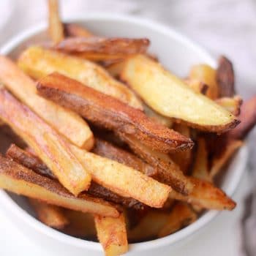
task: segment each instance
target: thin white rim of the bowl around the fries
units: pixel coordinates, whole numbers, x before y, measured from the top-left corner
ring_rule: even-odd
[[[127,23],[138,24],[141,26],[150,27],[151,29],[160,31],[161,34],[167,34],[168,36],[175,37],[178,41],[182,42],[185,46],[191,48],[193,51],[200,53],[206,62],[210,64],[212,67],[217,67],[216,60],[208,53],[206,50],[200,47],[195,42],[192,42],[191,39],[185,37],[184,35],[178,33],[175,29],[170,26],[164,25],[162,23],[158,23],[153,20],[149,20],[146,18],[138,18],[132,15],[113,15],[112,13],[106,12],[94,12],[86,15],[75,15],[69,16],[68,18],[64,18],[65,22],[86,22],[89,20],[116,20],[116,21],[124,21]],[[1,46],[0,53],[8,54],[11,50],[16,48],[20,42],[23,42],[25,39],[37,34],[39,31],[46,29],[47,24],[45,22],[38,23],[31,28],[26,29],[18,33],[15,37],[12,37],[7,43]],[[236,188],[238,187],[238,183],[241,180],[241,176],[244,173],[246,162],[248,159],[248,147],[245,145],[240,149],[240,154],[243,155],[244,161],[240,163],[240,167],[236,168],[236,173],[233,173],[233,176],[228,184],[225,192],[227,195],[233,195]],[[23,208],[18,206],[14,200],[5,192],[4,190],[0,191],[0,200],[5,203],[7,209],[12,211],[19,219],[22,219],[23,222],[26,222],[27,225],[34,227],[40,233],[44,233],[46,236],[50,238],[54,238],[57,241],[62,243],[70,244],[72,246],[91,249],[93,251],[99,252],[102,251],[102,246],[98,242],[87,241],[80,238],[75,238],[69,236],[67,234],[61,233],[58,230],[54,230],[51,227],[44,225],[42,222],[39,222],[36,218],[32,217],[28,212],[26,212]],[[197,230],[200,230],[204,227],[208,222],[210,222],[220,211],[207,211],[206,214],[203,214],[202,217],[197,219],[196,222],[192,223],[188,227],[184,227],[182,230],[179,230],[176,233],[173,233],[169,236],[165,236],[164,238],[158,238],[151,241],[140,242],[136,244],[129,244],[129,252],[141,252],[149,249],[156,249],[159,246],[167,246],[170,244],[176,244],[176,242],[181,241],[184,238],[187,238],[195,233]]]

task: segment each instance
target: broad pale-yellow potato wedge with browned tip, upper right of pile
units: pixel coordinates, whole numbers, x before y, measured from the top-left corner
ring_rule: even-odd
[[[146,56],[127,59],[121,78],[158,113],[181,120],[190,127],[221,133],[239,123],[227,110],[203,94],[195,93]]]

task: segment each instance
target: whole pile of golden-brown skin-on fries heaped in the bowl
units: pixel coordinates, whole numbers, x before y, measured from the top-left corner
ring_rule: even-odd
[[[256,97],[242,105],[231,62],[177,78],[148,39],[103,38],[59,17],[49,1],[51,43],[0,56],[1,127],[26,143],[0,156],[0,187],[110,256],[233,210],[214,181],[255,126]]]

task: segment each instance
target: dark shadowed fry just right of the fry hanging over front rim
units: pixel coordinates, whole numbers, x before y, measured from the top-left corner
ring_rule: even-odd
[[[148,211],[138,225],[127,230],[129,241],[139,242],[157,238],[157,234],[165,226],[167,219],[168,214],[165,211]]]

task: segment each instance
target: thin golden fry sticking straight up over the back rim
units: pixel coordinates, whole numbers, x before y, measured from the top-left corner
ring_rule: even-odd
[[[59,17],[58,0],[48,0],[49,33],[52,41],[58,43],[64,39],[64,28]]]

